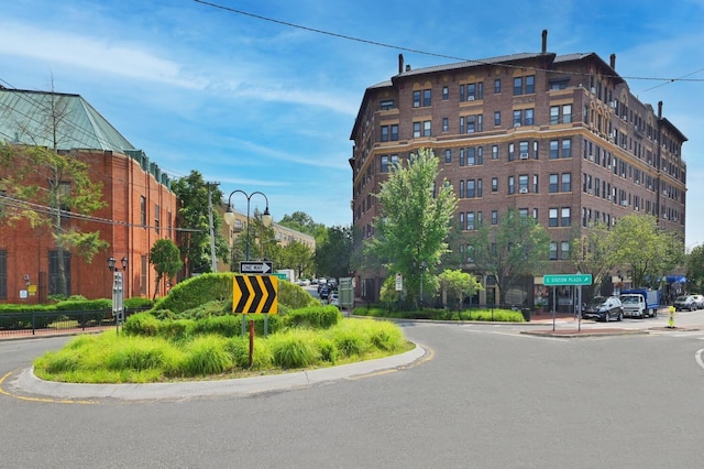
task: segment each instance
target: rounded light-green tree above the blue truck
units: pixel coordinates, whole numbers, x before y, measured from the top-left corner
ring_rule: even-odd
[[[651,215],[619,218],[609,233],[614,265],[630,273],[634,286],[658,287],[658,280],[684,260],[684,243],[658,227]]]

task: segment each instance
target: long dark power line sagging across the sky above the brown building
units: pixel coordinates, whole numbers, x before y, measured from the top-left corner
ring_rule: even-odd
[[[383,42],[378,42],[378,41],[372,41],[372,40],[367,40],[367,39],[363,39],[363,37],[334,33],[334,32],[331,32],[331,31],[320,30],[320,29],[317,29],[317,28],[305,26],[305,25],[301,25],[301,24],[296,24],[296,23],[292,23],[292,22],[288,22],[288,21],[277,20],[277,19],[274,19],[274,18],[251,13],[251,12],[248,12],[248,11],[244,11],[244,10],[238,10],[238,9],[234,9],[234,8],[231,8],[231,7],[224,7],[224,6],[221,6],[221,4],[218,4],[218,3],[212,3],[212,2],[208,2],[208,1],[204,1],[204,0],[194,0],[194,1],[196,3],[201,3],[201,4],[207,6],[207,7],[216,8],[216,9],[219,9],[219,10],[229,11],[231,13],[242,14],[244,17],[254,18],[256,20],[267,21],[267,22],[271,22],[271,23],[276,23],[276,24],[284,25],[284,26],[288,26],[288,28],[295,28],[295,29],[298,29],[298,30],[308,31],[308,32],[316,33],[316,34],[323,34],[323,35],[332,36],[332,37],[338,37],[338,39],[345,40],[345,41],[353,41],[353,42],[359,42],[359,43],[363,43],[363,44],[370,44],[370,45],[374,45],[374,46],[377,46],[377,47],[393,48],[393,50],[396,50],[396,51],[410,52],[410,53],[414,53],[414,54],[428,55],[428,56],[432,56],[432,57],[449,58],[449,59],[452,59],[452,61],[470,62],[470,63],[474,63],[474,64],[479,64],[479,65],[492,65],[492,66],[504,67],[504,68],[520,68],[520,69],[530,69],[530,70],[535,70],[535,72],[550,72],[550,73],[556,73],[556,74],[590,76],[588,73],[561,72],[561,70],[553,70],[553,69],[539,68],[539,67],[527,67],[527,66],[512,65],[512,64],[490,63],[490,62],[486,62],[486,61],[481,61],[481,59],[475,59],[475,58],[457,57],[457,56],[447,55],[447,54],[439,54],[439,53],[435,53],[435,52],[421,51],[421,50],[418,50],[418,48],[410,48],[410,47],[405,47],[405,46],[400,46],[400,45],[388,44],[388,43],[383,43]],[[694,75],[695,73],[698,73],[698,72],[701,72],[701,70],[697,70],[697,72],[694,72],[692,74],[685,75],[685,77],[690,76],[690,75]],[[695,83],[704,81],[704,78],[662,78],[662,77],[640,77],[640,76],[622,76],[622,75],[604,75],[604,77],[623,78],[623,79],[629,79],[629,80],[664,81],[662,85],[667,85],[668,83],[674,83],[674,81],[695,81]]]

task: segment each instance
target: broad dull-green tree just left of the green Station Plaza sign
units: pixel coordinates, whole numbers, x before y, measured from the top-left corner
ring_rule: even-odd
[[[499,302],[521,276],[541,272],[548,262],[550,236],[531,217],[510,209],[495,227],[481,226],[470,237],[468,255],[485,275],[494,275]]]

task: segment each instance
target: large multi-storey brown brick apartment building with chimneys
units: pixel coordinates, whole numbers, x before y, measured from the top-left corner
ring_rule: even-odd
[[[686,138],[662,102],[653,109],[630,92],[615,55],[549,53],[547,31],[540,53],[421,69],[399,55],[398,74],[365,90],[351,140],[353,225],[364,238],[374,236],[373,194],[389,165],[429,148],[459,198],[463,231],[509,208],[547,228],[552,262],[534,288],[546,273],[574,272],[570,244],[591,222],[650,214],[684,237]],[[491,279],[475,273],[486,288],[480,302],[493,303]],[[376,301],[382,275],[358,272],[356,294]]]

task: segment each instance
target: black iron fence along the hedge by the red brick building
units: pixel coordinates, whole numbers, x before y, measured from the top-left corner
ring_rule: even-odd
[[[124,316],[140,310],[144,308],[125,308]],[[111,309],[0,313],[0,338],[98,330],[109,326],[114,326]]]

